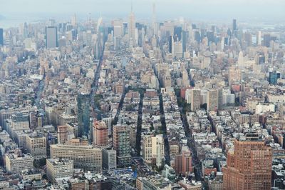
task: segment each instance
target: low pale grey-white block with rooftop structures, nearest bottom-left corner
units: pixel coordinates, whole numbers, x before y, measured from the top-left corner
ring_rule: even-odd
[[[33,156],[22,154],[20,149],[7,152],[4,159],[7,171],[19,173],[23,170],[33,169]]]

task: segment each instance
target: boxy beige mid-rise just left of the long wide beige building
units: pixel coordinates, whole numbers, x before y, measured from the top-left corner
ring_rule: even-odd
[[[33,159],[46,158],[46,136],[26,136],[26,149]]]

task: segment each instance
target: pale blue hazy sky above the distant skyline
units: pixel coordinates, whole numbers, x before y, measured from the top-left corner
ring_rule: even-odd
[[[133,0],[139,19],[151,18],[155,2],[158,19],[183,16],[192,19],[280,19],[285,18],[285,0]],[[99,15],[124,17],[131,0],[0,0],[0,14]]]

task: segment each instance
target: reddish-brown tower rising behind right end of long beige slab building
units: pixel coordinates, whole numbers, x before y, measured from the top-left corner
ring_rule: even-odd
[[[93,122],[93,143],[97,146],[108,145],[108,126],[104,121]]]

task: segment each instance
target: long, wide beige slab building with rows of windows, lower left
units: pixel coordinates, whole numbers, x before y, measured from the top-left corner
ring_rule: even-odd
[[[102,170],[102,150],[88,143],[52,144],[51,159],[55,158],[73,160],[74,168],[89,171]]]

